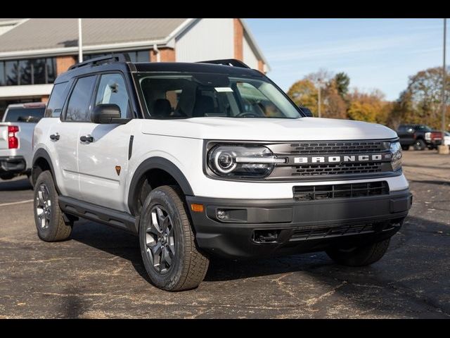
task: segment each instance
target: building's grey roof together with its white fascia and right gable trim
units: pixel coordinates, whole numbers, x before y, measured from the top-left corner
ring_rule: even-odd
[[[195,18],[84,18],[83,49],[86,52],[126,51],[158,46],[174,47],[174,38],[200,19]],[[248,42],[266,67],[269,65],[244,20]],[[77,18],[3,19],[0,59],[69,55],[78,49]]]

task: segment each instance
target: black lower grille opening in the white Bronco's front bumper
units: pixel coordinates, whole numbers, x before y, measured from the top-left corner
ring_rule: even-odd
[[[307,185],[293,187],[294,198],[300,201],[316,199],[344,199],[352,197],[366,197],[389,194],[389,185],[386,181]]]

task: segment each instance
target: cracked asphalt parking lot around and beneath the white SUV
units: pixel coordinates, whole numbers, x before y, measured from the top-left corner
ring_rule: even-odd
[[[413,208],[378,263],[214,261],[179,293],[147,282],[120,230],[79,221],[72,239],[41,242],[27,180],[0,181],[0,318],[450,318],[450,156],[406,151],[404,171]]]

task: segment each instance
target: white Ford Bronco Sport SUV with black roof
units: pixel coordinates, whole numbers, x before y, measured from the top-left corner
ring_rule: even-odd
[[[171,291],[214,256],[374,263],[412,201],[397,134],[307,115],[236,60],[73,65],[34,130],[37,233],[68,239],[81,217],[137,234]]]

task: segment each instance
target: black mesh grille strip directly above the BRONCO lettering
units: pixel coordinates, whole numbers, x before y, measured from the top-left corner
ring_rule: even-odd
[[[389,142],[300,142],[290,144],[290,154],[357,154],[386,151],[389,149]]]

